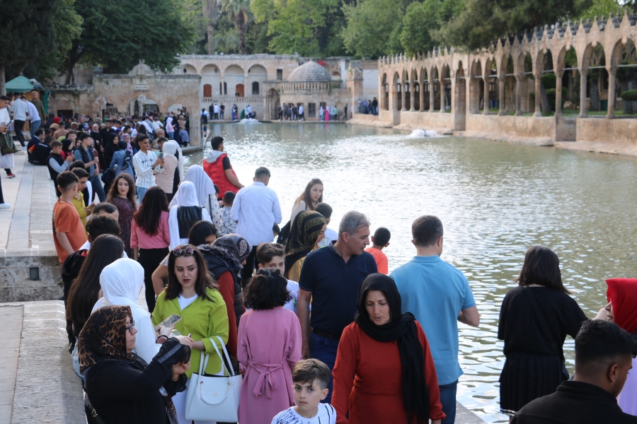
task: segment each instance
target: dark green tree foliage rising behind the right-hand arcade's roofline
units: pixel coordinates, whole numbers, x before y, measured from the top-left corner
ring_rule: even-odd
[[[591,5],[592,0],[464,0],[457,15],[432,35],[448,46],[480,49],[498,37],[578,16]]]

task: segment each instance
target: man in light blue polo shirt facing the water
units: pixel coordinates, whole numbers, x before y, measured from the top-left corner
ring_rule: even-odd
[[[447,418],[456,419],[456,388],[462,375],[458,362],[458,321],[480,324],[480,314],[469,281],[455,266],[440,259],[442,222],[421,216],[411,226],[416,256],[391,273],[401,293],[402,312],[411,312],[425,331],[436,366],[440,403]]]

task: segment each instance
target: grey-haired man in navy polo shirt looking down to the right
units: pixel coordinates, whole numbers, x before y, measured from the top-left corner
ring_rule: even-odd
[[[302,356],[323,361],[333,370],[343,329],[354,322],[358,288],[376,261],[365,252],[369,245],[369,221],[362,213],[345,213],[333,245],[308,254],[299,278],[297,315],[303,336]],[[312,301],[311,323],[309,305]],[[332,398],[332,379],[328,384]]]

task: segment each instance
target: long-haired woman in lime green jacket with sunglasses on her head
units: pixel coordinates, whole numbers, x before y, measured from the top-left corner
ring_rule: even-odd
[[[208,360],[205,373],[221,375],[222,364],[212,343],[222,351],[217,336],[222,338],[223,345],[228,343],[228,312],[226,303],[217,284],[207,271],[206,262],[193,245],[180,245],[168,255],[168,285],[157,298],[153,311],[153,325],[159,324],[172,314],[179,315],[180,321],[175,329],[184,336],[193,338],[193,354],[190,359],[190,370],[186,372],[188,381],[193,371],[198,372],[200,353],[212,354]],[[188,384],[188,383],[187,383]],[[190,424],[185,419],[185,398],[187,391],[173,396],[173,404],[180,424]],[[214,423],[214,421],[197,421],[197,424]]]

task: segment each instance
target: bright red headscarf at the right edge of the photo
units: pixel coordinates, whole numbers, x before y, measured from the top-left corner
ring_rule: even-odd
[[[611,278],[606,283],[615,323],[630,334],[637,334],[637,278]]]

